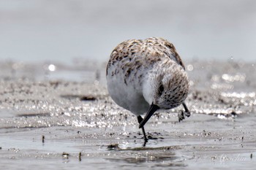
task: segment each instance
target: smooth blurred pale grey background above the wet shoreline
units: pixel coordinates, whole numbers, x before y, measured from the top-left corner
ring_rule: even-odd
[[[0,60],[108,61],[126,39],[161,36],[184,60],[256,60],[256,1],[1,0]]]

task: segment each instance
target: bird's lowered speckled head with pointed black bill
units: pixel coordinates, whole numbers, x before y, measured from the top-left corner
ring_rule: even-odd
[[[178,107],[186,98],[189,90],[187,73],[176,65],[165,72],[150,72],[143,82],[143,96],[151,105],[140,123],[140,128],[157,109],[172,109]]]

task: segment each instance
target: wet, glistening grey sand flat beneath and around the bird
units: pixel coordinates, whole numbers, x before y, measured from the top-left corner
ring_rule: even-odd
[[[187,63],[192,112],[146,124],[111,100],[104,64],[1,62],[1,169],[254,169],[256,68],[233,60]],[[44,137],[43,137],[44,136]]]

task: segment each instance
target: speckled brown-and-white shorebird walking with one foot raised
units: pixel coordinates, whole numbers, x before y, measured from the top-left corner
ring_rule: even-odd
[[[183,105],[189,90],[184,63],[173,44],[162,38],[129,39],[111,53],[107,66],[108,92],[113,101],[138,117],[145,142],[144,125],[158,109]],[[146,113],[142,118],[140,115]]]

